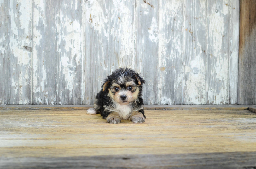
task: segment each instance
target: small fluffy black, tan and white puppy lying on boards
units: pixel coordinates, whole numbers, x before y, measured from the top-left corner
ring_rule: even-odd
[[[144,79],[129,68],[119,68],[104,80],[93,108],[87,114],[100,113],[108,123],[118,124],[121,119],[133,123],[145,122],[142,86]]]

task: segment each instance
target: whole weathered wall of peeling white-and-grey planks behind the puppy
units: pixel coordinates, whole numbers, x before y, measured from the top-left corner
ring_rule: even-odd
[[[0,104],[92,104],[118,67],[146,104],[237,103],[239,0],[0,0]]]

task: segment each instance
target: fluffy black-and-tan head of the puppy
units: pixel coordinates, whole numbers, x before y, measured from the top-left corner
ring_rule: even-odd
[[[102,90],[121,105],[127,105],[141,96],[144,79],[129,68],[119,68],[104,80]]]

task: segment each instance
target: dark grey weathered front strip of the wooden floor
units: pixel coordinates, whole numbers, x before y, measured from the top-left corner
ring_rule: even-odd
[[[3,168],[255,168],[256,152],[1,158]],[[22,166],[19,161],[25,161]]]

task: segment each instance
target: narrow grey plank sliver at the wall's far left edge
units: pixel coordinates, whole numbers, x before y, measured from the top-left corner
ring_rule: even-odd
[[[5,39],[7,36],[7,28],[6,28],[6,3],[4,0],[0,0],[0,104],[6,104],[6,97],[7,94],[5,92],[5,86],[7,85],[7,80],[6,80],[6,68],[5,68],[5,63],[6,63],[6,53],[5,53],[5,48],[6,48],[6,43]]]

